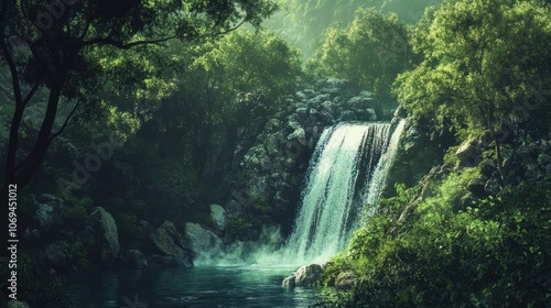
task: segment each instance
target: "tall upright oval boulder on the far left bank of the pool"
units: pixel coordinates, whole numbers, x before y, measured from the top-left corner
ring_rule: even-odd
[[[120,250],[115,219],[104,208],[97,207],[88,217],[88,228],[93,238],[93,251],[104,264],[112,265]]]

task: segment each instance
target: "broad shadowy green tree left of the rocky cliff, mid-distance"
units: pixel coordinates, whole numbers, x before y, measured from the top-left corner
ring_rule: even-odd
[[[217,158],[215,152],[231,156],[239,133],[253,129],[255,120],[277,110],[296,88],[300,53],[272,32],[248,30],[216,42],[176,43],[171,48],[191,56],[174,62],[177,90],[153,121],[165,134],[184,138],[193,146],[197,173],[209,178],[205,172],[213,172],[208,161]],[[228,148],[214,150],[220,146]]]

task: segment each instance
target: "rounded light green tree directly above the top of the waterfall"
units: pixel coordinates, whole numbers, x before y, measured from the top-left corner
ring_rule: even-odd
[[[333,28],[326,33],[309,68],[372,90],[388,108],[395,102],[392,82],[413,62],[406,25],[398,15],[359,9],[347,29]]]

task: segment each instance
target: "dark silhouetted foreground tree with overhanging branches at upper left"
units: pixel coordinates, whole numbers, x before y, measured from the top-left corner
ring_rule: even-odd
[[[48,145],[67,127],[69,113],[58,128],[60,102],[89,98],[109,76],[100,51],[127,51],[162,45],[171,40],[207,40],[244,23],[259,26],[277,4],[271,0],[162,1],[162,0],[50,0],[0,2],[0,51],[11,75],[14,111],[11,120],[2,200],[8,185],[18,190],[32,178]],[[24,40],[21,40],[24,37]],[[19,132],[26,108],[40,88],[47,102],[35,142],[21,153]],[[1,217],[8,207],[2,204]],[[2,237],[6,237],[6,230]]]

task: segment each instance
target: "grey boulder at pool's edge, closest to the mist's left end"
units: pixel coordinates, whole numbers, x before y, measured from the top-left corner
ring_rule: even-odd
[[[220,251],[222,240],[198,223],[187,222],[185,237],[190,240],[191,250],[203,257],[212,257]]]

